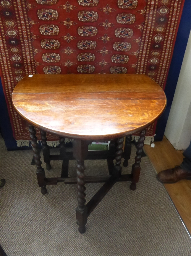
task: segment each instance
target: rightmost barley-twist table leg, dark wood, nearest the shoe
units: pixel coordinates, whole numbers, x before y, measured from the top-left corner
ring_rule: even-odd
[[[139,181],[139,175],[141,171],[140,163],[141,163],[141,157],[142,157],[142,148],[144,146],[145,134],[146,134],[146,130],[142,130],[140,132],[140,137],[138,140],[138,144],[136,146],[137,151],[136,151],[135,163],[133,164],[132,171],[131,171],[131,174],[133,176],[133,180],[130,185],[131,190],[136,189],[136,183]]]

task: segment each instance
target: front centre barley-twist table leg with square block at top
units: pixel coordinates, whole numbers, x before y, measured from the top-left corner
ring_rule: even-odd
[[[84,159],[87,156],[88,152],[88,143],[83,140],[74,140],[73,141],[73,156],[77,160],[77,194],[78,194],[78,207],[76,208],[76,219],[77,224],[79,225],[79,233],[84,233],[86,231],[87,223],[87,207],[86,203],[86,187],[84,181]]]

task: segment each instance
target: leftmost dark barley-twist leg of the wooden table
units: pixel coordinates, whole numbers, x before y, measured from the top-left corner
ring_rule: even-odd
[[[44,168],[42,168],[40,161],[40,153],[37,143],[37,137],[36,137],[36,130],[34,129],[34,126],[29,125],[29,132],[31,137],[31,145],[32,145],[32,151],[34,152],[34,160],[37,167],[37,181],[39,183],[39,187],[41,187],[41,193],[45,195],[47,193],[46,185],[45,185],[45,172]]]

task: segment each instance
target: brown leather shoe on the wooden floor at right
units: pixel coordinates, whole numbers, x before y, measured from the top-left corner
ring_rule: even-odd
[[[159,172],[157,179],[162,183],[175,183],[182,179],[191,180],[191,172],[186,172],[179,165],[176,165],[172,169]]]

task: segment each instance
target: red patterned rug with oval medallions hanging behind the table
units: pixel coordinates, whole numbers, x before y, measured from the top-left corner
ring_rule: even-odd
[[[30,137],[11,93],[26,74],[137,73],[164,89],[183,3],[0,0],[0,74],[18,146]],[[154,134],[155,124],[147,139]]]

